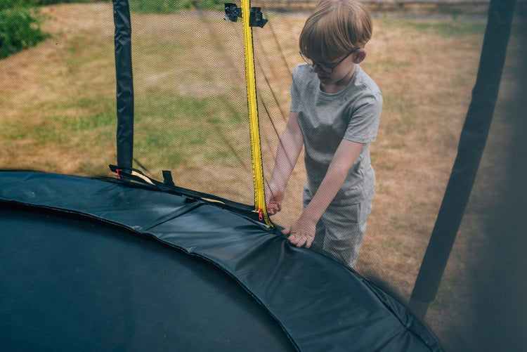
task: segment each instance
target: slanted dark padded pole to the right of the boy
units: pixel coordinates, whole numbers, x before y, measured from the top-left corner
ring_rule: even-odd
[[[424,318],[429,304],[436,298],[474,185],[500,89],[515,3],[514,0],[491,0],[488,7],[476,84],[457,157],[410,297],[410,310],[419,318]]]

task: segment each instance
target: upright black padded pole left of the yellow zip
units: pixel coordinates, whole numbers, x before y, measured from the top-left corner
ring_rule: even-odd
[[[112,0],[115,22],[117,81],[117,167],[131,172],[134,155],[134,79],[131,65],[131,23],[128,0]]]

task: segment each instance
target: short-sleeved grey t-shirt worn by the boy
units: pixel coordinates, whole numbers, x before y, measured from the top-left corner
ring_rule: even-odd
[[[315,195],[344,138],[364,145],[332,204],[371,201],[375,173],[370,164],[370,142],[377,138],[381,117],[379,87],[359,65],[348,86],[335,94],[320,90],[320,81],[308,64],[295,67],[292,76],[290,110],[297,113],[304,136],[308,194]]]

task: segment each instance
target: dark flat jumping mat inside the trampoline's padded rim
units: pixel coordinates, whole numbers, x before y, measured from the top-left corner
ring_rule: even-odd
[[[25,207],[0,229],[3,351],[294,350],[233,278],[150,237]]]

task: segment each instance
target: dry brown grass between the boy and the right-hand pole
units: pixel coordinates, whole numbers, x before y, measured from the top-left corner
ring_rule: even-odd
[[[398,282],[408,296],[455,159],[481,35],[443,37],[393,26],[379,30],[368,63],[387,109],[372,146],[379,181],[358,270],[384,263],[384,278]]]

